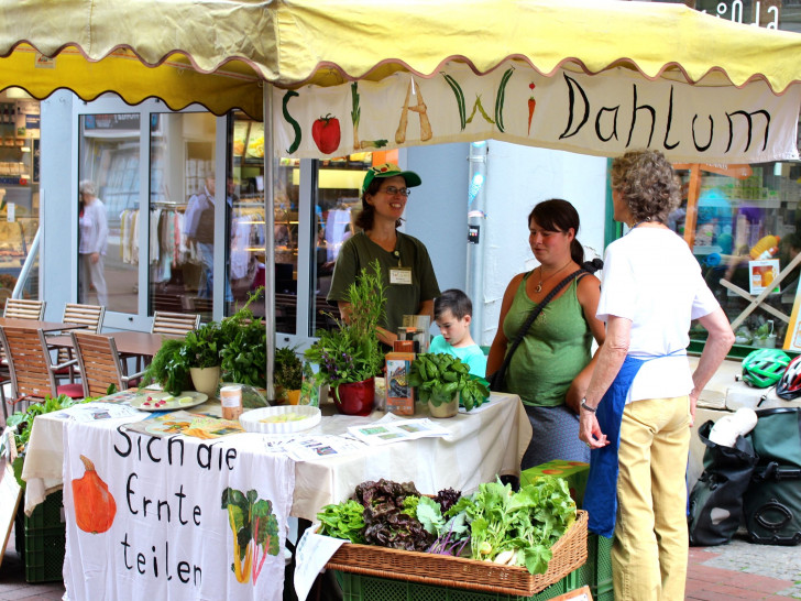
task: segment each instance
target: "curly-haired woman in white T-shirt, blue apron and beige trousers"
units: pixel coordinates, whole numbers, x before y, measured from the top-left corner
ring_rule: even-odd
[[[698,261],[666,226],[678,190],[660,152],[633,151],[612,164],[614,218],[630,230],[606,249],[596,314],[606,339],[581,403],[579,437],[591,449],[590,529],[615,537],[617,601],[684,599],[689,426],[734,342]],[[709,338],[691,372],[693,319]]]

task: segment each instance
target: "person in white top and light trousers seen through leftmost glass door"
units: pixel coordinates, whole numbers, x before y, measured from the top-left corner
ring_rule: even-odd
[[[97,291],[98,305],[109,302],[103,274],[109,226],[106,206],[97,197],[95,183],[84,179],[78,184],[78,276],[79,300],[88,303],[89,287]]]

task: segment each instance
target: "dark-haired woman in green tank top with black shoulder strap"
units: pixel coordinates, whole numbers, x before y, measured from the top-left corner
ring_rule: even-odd
[[[584,262],[575,239],[579,214],[562,199],[539,203],[528,216],[528,243],[539,266],[515,275],[506,287],[486,373],[494,374],[512,352],[504,391],[517,394],[531,423],[531,440],[523,456],[526,470],[553,459],[589,461],[590,451],[578,440],[579,403],[592,375],[592,340],[604,341],[595,318],[597,277],[581,273],[542,308],[517,349],[513,341],[531,312]]]

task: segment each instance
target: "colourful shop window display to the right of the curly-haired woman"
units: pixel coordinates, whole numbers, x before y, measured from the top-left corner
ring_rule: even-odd
[[[669,226],[692,248],[736,343],[782,347],[799,329],[801,164],[676,167],[683,203]],[[699,324],[691,339],[705,339]]]

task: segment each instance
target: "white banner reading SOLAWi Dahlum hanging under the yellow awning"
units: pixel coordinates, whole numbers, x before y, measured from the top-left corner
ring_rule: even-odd
[[[273,95],[275,156],[495,139],[601,156],[648,147],[673,162],[798,159],[800,85],[775,96],[761,80],[690,86],[624,68],[546,77],[507,62],[483,76],[448,64],[428,79],[396,73]]]

